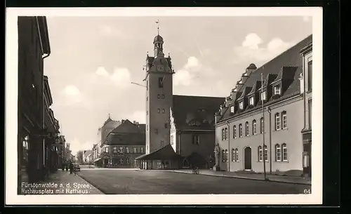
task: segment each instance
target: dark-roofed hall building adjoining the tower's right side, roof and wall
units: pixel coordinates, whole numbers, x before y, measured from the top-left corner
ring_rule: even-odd
[[[171,145],[181,156],[179,168],[214,165],[214,114],[225,98],[173,95]]]

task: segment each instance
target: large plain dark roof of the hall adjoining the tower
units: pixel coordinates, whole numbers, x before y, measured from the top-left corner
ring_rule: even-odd
[[[177,130],[214,130],[214,114],[225,98],[173,95],[172,116]],[[192,126],[190,121],[200,121]]]

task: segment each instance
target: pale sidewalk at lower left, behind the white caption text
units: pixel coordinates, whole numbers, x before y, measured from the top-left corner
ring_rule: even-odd
[[[22,184],[22,194],[103,194],[78,174],[58,170],[39,184]]]

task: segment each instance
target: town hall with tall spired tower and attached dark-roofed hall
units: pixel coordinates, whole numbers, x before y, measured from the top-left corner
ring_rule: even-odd
[[[154,37],[154,56],[146,58],[146,154],[140,168],[208,168],[215,145],[214,114],[225,98],[173,95],[171,57],[164,39]],[[173,126],[173,128],[171,128]]]

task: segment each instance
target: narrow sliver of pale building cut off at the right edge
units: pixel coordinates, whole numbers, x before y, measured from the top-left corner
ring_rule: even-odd
[[[304,128],[303,138],[303,173],[311,177],[312,152],[312,43],[301,50],[303,56],[303,73],[300,76],[301,93],[304,102]]]

